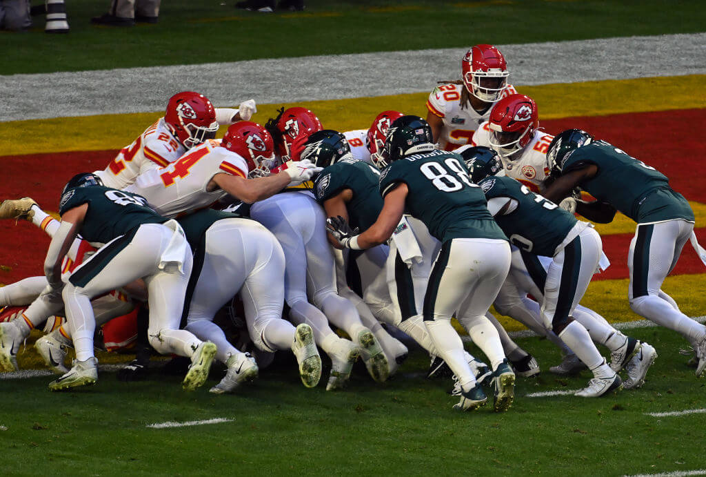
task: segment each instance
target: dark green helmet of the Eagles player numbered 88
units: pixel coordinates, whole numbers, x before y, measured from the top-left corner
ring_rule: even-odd
[[[383,158],[378,160],[378,167],[400,160],[405,155],[433,151],[434,139],[431,127],[419,116],[402,116],[390,124],[385,135]]]

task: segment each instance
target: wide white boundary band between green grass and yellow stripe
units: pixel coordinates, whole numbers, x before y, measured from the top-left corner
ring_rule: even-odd
[[[706,33],[498,47],[508,60],[510,83],[532,86],[705,74],[706,63],[694,61],[704,45]],[[421,93],[437,81],[460,79],[466,49],[0,76],[0,122],[164,111],[167,98],[184,90],[203,93],[220,107],[249,98],[278,104]]]

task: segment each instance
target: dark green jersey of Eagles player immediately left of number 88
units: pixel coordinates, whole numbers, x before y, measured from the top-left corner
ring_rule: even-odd
[[[378,190],[380,172],[362,160],[344,159],[326,167],[313,183],[316,201],[322,204],[344,189],[353,198],[347,204],[348,222],[361,231],[369,228],[380,215],[383,197]]]

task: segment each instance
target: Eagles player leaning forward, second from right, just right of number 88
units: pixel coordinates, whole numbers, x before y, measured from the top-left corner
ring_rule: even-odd
[[[633,360],[635,363],[628,369],[630,387],[640,386],[657,356],[654,348],[624,336],[590,315],[588,320],[584,316],[575,320],[573,316],[597,269],[602,249],[598,233],[589,223],[576,220],[573,214],[537,196],[517,180],[498,175],[503,170],[498,155],[489,148],[476,149],[465,151],[466,165],[471,179],[483,188],[488,208],[505,235],[524,254],[552,257],[544,285],[530,291],[542,303],[540,314],[544,326],[561,338],[594,374],[588,387],[576,395],[598,397],[618,389],[621,378],[616,372]],[[537,268],[542,269],[541,264]],[[528,274],[533,273],[528,270]],[[610,367],[587,328],[593,329],[593,334],[602,331],[611,336],[605,343],[613,351]],[[638,351],[645,355],[645,360],[635,358]]]

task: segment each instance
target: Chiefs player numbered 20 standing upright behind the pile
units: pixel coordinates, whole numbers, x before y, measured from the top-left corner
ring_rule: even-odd
[[[508,66],[493,45],[475,45],[461,61],[462,81],[440,81],[426,101],[426,122],[445,151],[470,144],[493,104],[517,93],[508,85]]]

